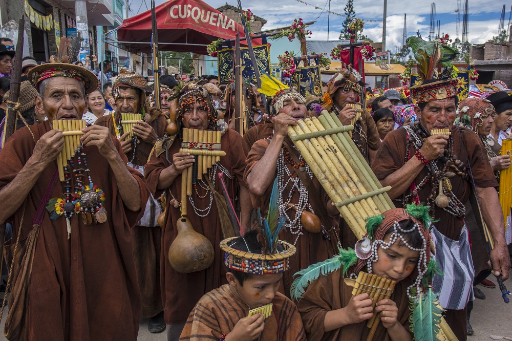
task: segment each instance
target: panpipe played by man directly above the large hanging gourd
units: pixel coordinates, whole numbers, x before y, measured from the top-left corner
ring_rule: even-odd
[[[221,132],[183,128],[183,140],[180,152],[194,155],[194,164],[181,174],[181,215],[187,214],[187,196],[192,195],[192,184],[202,179],[221,156],[226,152],[221,150]]]

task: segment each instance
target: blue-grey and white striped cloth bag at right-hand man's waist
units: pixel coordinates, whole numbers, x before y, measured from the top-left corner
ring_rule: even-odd
[[[473,300],[475,278],[467,229],[463,226],[459,239],[452,240],[432,225],[432,240],[436,246],[434,259],[443,272],[434,276],[432,284],[439,293],[439,304],[444,309],[464,309],[467,302]]]

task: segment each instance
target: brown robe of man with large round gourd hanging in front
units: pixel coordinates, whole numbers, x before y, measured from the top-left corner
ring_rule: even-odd
[[[169,148],[169,160],[172,160],[172,156],[178,153],[179,147],[180,141],[177,138]],[[222,156],[220,158],[220,164],[223,165],[232,175],[232,179],[228,179],[227,176],[224,175],[224,181],[226,183],[230,199],[233,200],[236,196],[239,196],[240,186],[245,186],[243,174],[245,169],[247,146],[240,134],[228,129],[221,138],[221,148],[226,152],[226,156]],[[147,179],[148,186],[155,196],[159,196],[162,192],[162,190],[157,189],[160,173],[163,169],[170,166],[165,154],[166,153],[162,153],[158,157],[153,155],[151,162],[146,164],[145,177]],[[217,174],[220,172],[221,170],[217,168]],[[222,194],[222,187],[217,174],[215,175],[215,189]],[[200,185],[197,186],[197,191],[201,197],[206,194],[206,191],[201,188]],[[179,273],[174,270],[170,266],[167,253],[170,245],[176,238],[178,232],[176,222],[181,217],[181,212],[180,208],[175,208],[170,201],[173,197],[181,200],[181,175],[179,175],[173,184],[165,190],[165,194],[167,198],[167,207],[165,226],[162,230],[162,247],[160,251],[162,302],[164,306],[165,322],[168,324],[179,324],[186,322],[188,314],[194,308],[201,296],[226,283],[226,270],[223,263],[222,251],[219,248],[219,243],[223,237],[215,200],[211,203],[209,214],[205,217],[199,217],[194,212],[194,208],[190,204],[190,201],[187,200],[187,218],[190,220],[194,229],[208,238],[214,246],[215,259],[210,267],[202,271]],[[194,200],[196,207],[200,209],[205,209],[210,203],[209,195],[206,195],[204,198],[200,198],[197,193],[193,193],[192,199]]]

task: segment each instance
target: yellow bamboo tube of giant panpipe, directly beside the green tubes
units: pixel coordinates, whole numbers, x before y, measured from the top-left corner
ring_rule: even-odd
[[[325,126],[329,126],[328,122],[326,121],[325,117],[318,118],[312,118],[311,120],[316,128],[318,130],[325,129]],[[324,124],[323,124],[324,123]],[[329,128],[330,129],[330,128]],[[344,151],[343,145],[341,145],[339,139],[333,135],[326,135],[325,137],[326,142],[329,145],[330,150],[334,152],[334,155],[338,158],[339,162],[342,163],[343,167],[349,174],[349,177],[351,179],[357,179],[355,181],[355,184],[357,188],[359,189],[361,194],[368,193],[372,190],[372,187],[368,183],[368,180],[365,178],[365,176],[360,171],[359,167],[354,163],[353,159],[348,157],[348,159],[345,157],[342,151]],[[336,143],[333,139],[337,139],[338,143]],[[339,146],[338,146],[339,144]],[[373,196],[372,196],[373,197]],[[373,202],[373,203],[372,203]],[[371,207],[377,207],[379,212],[384,212],[386,210],[385,205],[382,204],[379,196],[376,196],[375,198],[371,198],[371,200],[368,202]]]

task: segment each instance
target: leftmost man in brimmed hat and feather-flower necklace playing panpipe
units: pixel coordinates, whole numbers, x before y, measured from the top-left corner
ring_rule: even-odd
[[[0,222],[13,222],[6,248],[17,249],[8,338],[135,340],[140,294],[129,230],[142,216],[145,181],[126,167],[109,130],[92,125],[75,135],[81,144],[59,182],[65,139],[53,120],[79,120],[98,80],[62,62],[37,66],[28,78],[48,121],[32,125],[33,135],[15,132],[0,153]]]

